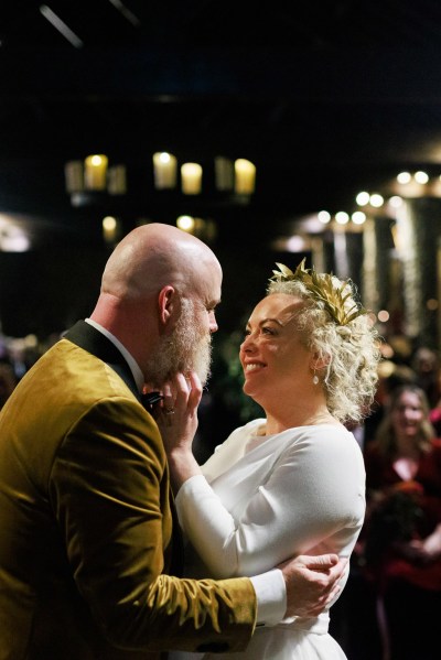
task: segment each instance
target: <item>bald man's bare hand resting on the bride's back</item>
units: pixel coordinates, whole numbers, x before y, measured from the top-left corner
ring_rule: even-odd
[[[286,616],[311,617],[323,612],[338,594],[346,565],[347,559],[338,560],[336,554],[301,554],[277,566],[287,585]]]

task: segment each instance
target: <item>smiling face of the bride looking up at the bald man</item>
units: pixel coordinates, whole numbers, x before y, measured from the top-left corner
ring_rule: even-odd
[[[255,307],[240,346],[244,391],[263,404],[267,394],[295,391],[311,381],[311,351],[302,343],[295,316],[300,297],[273,293]]]

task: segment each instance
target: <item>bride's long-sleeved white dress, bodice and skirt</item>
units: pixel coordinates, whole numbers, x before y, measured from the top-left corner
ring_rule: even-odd
[[[365,515],[361,448],[344,426],[259,435],[265,420],[236,429],[185,482],[176,508],[192,577],[257,575],[298,554],[349,556]],[[344,577],[344,582],[347,580]],[[344,660],[327,634],[329,612],[257,628],[245,652],[171,652],[173,660]]]

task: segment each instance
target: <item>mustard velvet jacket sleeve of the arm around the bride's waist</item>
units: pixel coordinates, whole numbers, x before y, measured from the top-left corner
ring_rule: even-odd
[[[58,448],[50,497],[78,589],[115,646],[241,649],[255,624],[247,580],[163,574],[169,478],[159,431],[146,415],[136,401],[103,400]]]

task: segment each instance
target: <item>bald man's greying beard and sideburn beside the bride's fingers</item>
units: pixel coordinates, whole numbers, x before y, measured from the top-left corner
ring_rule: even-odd
[[[195,371],[205,385],[212,361],[212,336],[196,317],[194,304],[182,300],[182,313],[171,335],[163,337],[147,364],[148,382],[161,389],[175,374]]]

